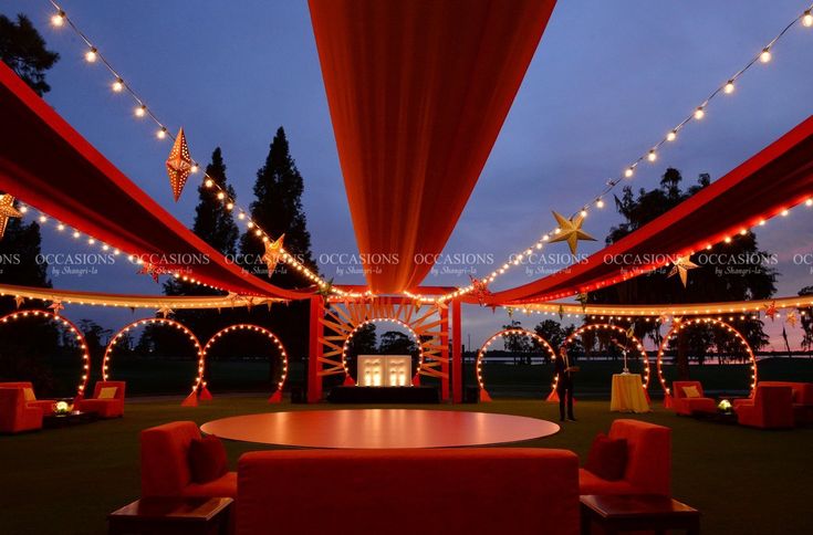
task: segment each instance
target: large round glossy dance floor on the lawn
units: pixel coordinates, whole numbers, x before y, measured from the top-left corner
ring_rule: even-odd
[[[222,439],[303,448],[452,448],[548,437],[559,426],[451,410],[337,409],[236,416],[200,428]]]

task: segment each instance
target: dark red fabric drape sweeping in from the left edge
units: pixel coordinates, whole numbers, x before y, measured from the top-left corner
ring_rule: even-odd
[[[0,62],[0,189],[156,266],[246,295],[302,298],[243,274],[91,146]],[[175,259],[168,255],[175,254]],[[186,265],[188,258],[209,263]],[[135,271],[135,270],[134,270]]]

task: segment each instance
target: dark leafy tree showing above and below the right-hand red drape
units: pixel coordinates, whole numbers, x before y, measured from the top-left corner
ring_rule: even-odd
[[[697,183],[686,190],[680,188],[681,181],[680,171],[668,168],[661,177],[659,188],[649,191],[640,189],[637,197],[633,193],[632,188],[624,188],[621,198],[615,199],[616,209],[624,217],[624,222],[611,229],[606,243],[615,243],[666,213],[707,187],[711,179],[708,174],[702,174],[698,177]],[[776,274],[770,268],[771,256],[759,249],[757,238],[752,232],[738,235],[731,243],[715,245],[712,250],[703,253],[713,254],[705,254],[709,262],[700,262],[699,268],[691,270],[686,287],[682,286],[679,277],[667,276],[669,273],[667,266],[665,270],[592,292],[588,301],[596,304],[744,301],[768,298],[775,292]],[[710,259],[717,260],[717,263],[711,263]],[[734,326],[744,333],[754,349],[768,343],[761,321],[747,318],[737,319],[734,323]],[[698,327],[698,329],[703,328],[708,333],[684,333],[678,336],[675,348],[680,378],[688,377],[689,353],[694,353],[701,361],[707,348],[700,349],[700,346],[708,346],[713,340],[712,328]],[[694,328],[686,331],[694,331]],[[637,322],[634,325],[634,332],[638,338],[648,335],[653,339],[659,339],[657,322]],[[720,343],[720,346],[722,345]]]

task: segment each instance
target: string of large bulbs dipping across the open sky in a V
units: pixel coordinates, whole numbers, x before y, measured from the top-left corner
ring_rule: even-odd
[[[113,65],[107,61],[107,59],[100,52],[98,48],[87,38],[87,35],[77,28],[77,25],[74,23],[72,19],[67,17],[65,11],[54,1],[54,0],[48,0],[51,6],[56,10],[56,12],[51,17],[51,24],[54,28],[63,28],[67,27],[71,30],[73,30],[76,35],[85,43],[87,50],[85,51],[85,61],[87,63],[94,64],[100,63],[104,65],[110,73],[113,76],[113,82],[111,83],[111,88],[114,93],[127,93],[129,96],[135,101],[135,109],[134,115],[138,118],[149,118],[152,119],[156,126],[156,137],[158,139],[175,139],[175,136],[168,130],[165,123],[163,123],[158,117],[153,113],[153,111],[146,105],[146,102],[144,98],[142,98],[134,90],[133,87],[124,80],[124,77],[118,73],[117,70],[113,67]],[[730,95],[734,93],[736,86],[738,81],[754,65],[758,64],[767,64],[770,63],[773,51],[775,45],[779,43],[779,41],[786,34],[786,32],[793,28],[794,25],[801,23],[805,28],[813,27],[813,3],[807,7],[802,13],[800,13],[796,18],[794,18],[791,22],[789,22],[781,32],[779,32],[771,41],[768,42],[767,45],[762,46],[758,54],[752,56],[748,63],[743,67],[741,67],[739,71],[737,71],[733,75],[728,76],[726,78],[726,82],[716,87],[708,97],[706,97],[700,105],[696,106],[692,112],[687,115],[682,120],[680,120],[674,128],[670,128],[667,130],[666,135],[659,139],[657,143],[655,143],[650,148],[638,156],[636,159],[634,159],[623,171],[622,174],[614,179],[607,180],[605,183],[604,189],[595,196],[590,202],[586,202],[581,210],[579,210],[576,213],[572,216],[572,218],[580,217],[585,218],[588,214],[588,211],[595,207],[597,209],[601,209],[605,206],[604,197],[608,195],[611,191],[615,189],[616,186],[624,182],[625,180],[632,180],[635,177],[636,170],[640,164],[644,161],[647,161],[649,164],[654,164],[658,159],[658,153],[667,144],[674,143],[678,134],[682,132],[682,129],[691,122],[699,122],[702,120],[706,117],[706,113],[708,109],[709,104],[720,95]],[[198,172],[200,170],[200,166],[197,161],[192,159],[192,172]],[[244,210],[241,207],[237,206],[237,202],[234,199],[230,198],[228,192],[218,183],[217,180],[215,180],[212,177],[209,177],[206,172],[204,172],[204,185],[205,187],[212,189],[216,193],[216,197],[218,200],[222,202],[223,209],[228,211],[237,210],[237,218],[240,221],[243,221],[244,224],[249,230],[253,230],[253,234],[263,241],[263,243],[268,243],[272,238],[260,227],[257,224],[256,221],[251,220],[249,217],[249,212]],[[811,202],[809,200],[809,202]],[[783,213],[786,214],[786,211]],[[760,224],[764,224],[764,221],[762,221]],[[561,232],[561,229],[559,227],[552,229],[549,232],[545,232],[542,234],[542,237],[531,246],[527,248],[524,251],[514,253],[510,256],[508,262],[503,263],[500,268],[492,271],[489,275],[483,277],[481,281],[484,284],[491,284],[494,280],[497,280],[499,276],[503,275],[505,272],[511,270],[511,268],[520,265],[522,262],[522,259],[531,253],[533,253],[534,250],[541,250],[545,246],[545,244],[553,240],[554,237],[556,237]],[[744,231],[742,232],[744,233]],[[726,238],[726,242],[730,242],[730,238]],[[316,284],[320,290],[327,291],[334,295],[337,295],[340,297],[369,297],[372,296],[372,293],[369,291],[359,293],[359,292],[346,292],[338,287],[335,287],[332,285],[331,282],[327,282],[322,276],[319,275],[319,273],[310,270],[308,266],[303,265],[301,262],[299,262],[292,254],[290,254],[288,251],[283,249],[282,251],[282,260],[288,263],[289,265],[293,266],[294,270],[296,270],[299,273],[301,273],[303,276],[305,276],[308,280]],[[415,294],[411,292],[404,292],[405,295],[421,302],[421,303],[444,303],[446,301],[466,295],[468,293],[471,293],[476,290],[476,284],[472,282],[472,284],[469,284],[467,286],[459,287],[452,292],[448,292],[442,295],[436,295],[436,296],[427,296],[427,295],[420,295]]]

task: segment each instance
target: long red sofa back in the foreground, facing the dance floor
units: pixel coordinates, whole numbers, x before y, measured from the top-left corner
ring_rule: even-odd
[[[577,470],[525,448],[250,452],[237,533],[577,535]]]

